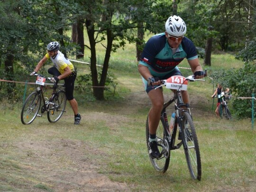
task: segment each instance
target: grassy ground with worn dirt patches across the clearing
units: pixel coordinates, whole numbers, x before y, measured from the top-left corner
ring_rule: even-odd
[[[21,103],[0,104],[0,191],[94,191],[90,182],[98,186],[100,180],[93,183],[88,177],[101,175],[126,184],[125,190],[109,191],[256,191],[256,127],[252,130],[247,119],[217,119],[210,98],[212,84],[207,78],[206,82],[190,83],[188,90],[200,145],[202,180],[191,179],[182,149],[171,151],[165,174],[153,168],[145,138],[150,102],[131,56],[135,55],[130,51],[134,48],[130,45],[127,49],[111,55],[110,71],[119,80],[118,98],[87,101],[83,93],[75,92],[82,114],[79,126],[72,124],[69,104],[59,122],[51,124],[45,115],[26,126],[20,122]],[[212,58],[211,70],[243,65],[229,54]],[[185,62],[181,66],[188,67]],[[82,64],[77,67],[81,74],[88,70]],[[185,69],[182,72],[191,74]],[[108,183],[104,189],[113,185]]]

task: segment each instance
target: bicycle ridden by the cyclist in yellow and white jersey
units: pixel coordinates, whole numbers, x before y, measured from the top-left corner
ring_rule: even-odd
[[[43,113],[47,111],[48,121],[55,123],[65,112],[67,102],[65,91],[60,89],[57,83],[54,83],[52,87],[52,95],[48,100],[47,97],[44,97],[44,92],[46,90],[45,83],[46,80],[51,81],[52,78],[39,74],[35,74],[35,76],[37,76],[36,84],[39,86],[37,87],[37,90],[30,93],[25,100],[21,110],[21,122],[24,125],[31,124],[36,117],[42,117]],[[41,107],[42,100],[43,105]],[[39,113],[39,110],[41,113]]]

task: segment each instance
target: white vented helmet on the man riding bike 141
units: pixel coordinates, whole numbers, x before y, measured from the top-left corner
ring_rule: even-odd
[[[187,27],[185,22],[179,16],[171,16],[167,19],[165,23],[165,31],[169,35],[173,35],[175,37],[180,37],[186,34]]]

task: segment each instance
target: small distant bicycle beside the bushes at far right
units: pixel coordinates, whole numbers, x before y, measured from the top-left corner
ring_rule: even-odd
[[[231,97],[227,94],[227,92],[221,92],[219,95],[215,95],[214,97],[220,98],[221,102],[219,105],[219,116],[225,117],[227,120],[230,120],[232,118],[229,107],[227,105],[226,99]]]

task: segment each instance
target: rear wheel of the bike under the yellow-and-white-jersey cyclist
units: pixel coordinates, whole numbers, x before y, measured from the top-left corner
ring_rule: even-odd
[[[51,100],[54,104],[49,104],[47,118],[51,123],[57,122],[64,113],[66,107],[66,94],[63,90],[58,91]]]

